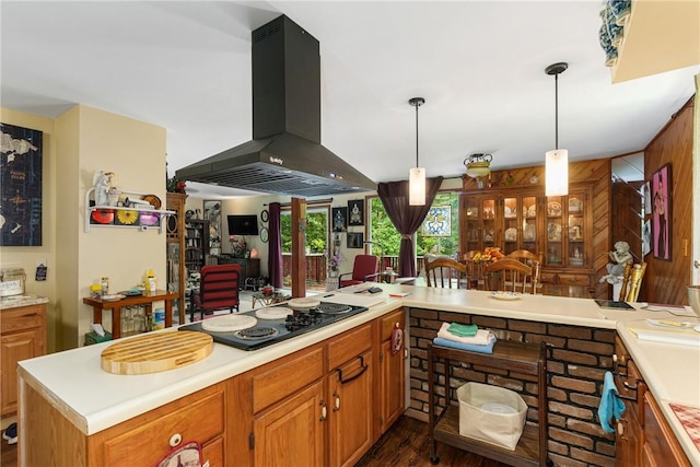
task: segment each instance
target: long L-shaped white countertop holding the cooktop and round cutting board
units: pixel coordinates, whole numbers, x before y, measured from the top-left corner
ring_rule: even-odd
[[[102,350],[113,343],[102,342],[22,361],[20,372],[32,387],[52,400],[55,406],[83,433],[93,434],[354,328],[401,305],[606,329],[615,329],[618,322],[623,320],[673,317],[665,312],[602,310],[588,299],[524,295],[520,300],[502,301],[493,299],[489,292],[483,291],[385,283],[366,284],[366,287],[370,285],[378,285],[383,292],[377,295],[353,295],[351,300],[374,302],[381,301],[377,297],[384,297],[386,302],[373,305],[368,312],[334,325],[256,351],[243,351],[215,343],[211,355],[185,367],[147,375],[115,375],[104,372],[100,366]],[[408,292],[409,295],[402,299],[388,296],[389,292],[401,291]],[[342,293],[342,291],[329,292],[334,294],[334,300],[337,299],[336,295]],[[324,295],[320,295],[322,300]],[[171,331],[173,329],[159,332]],[[680,381],[684,380],[677,378],[675,383],[678,384]],[[660,384],[674,385],[674,382]]]

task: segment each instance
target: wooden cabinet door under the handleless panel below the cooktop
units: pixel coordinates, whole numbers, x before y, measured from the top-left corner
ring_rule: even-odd
[[[324,465],[323,388],[319,381],[255,418],[256,466]]]

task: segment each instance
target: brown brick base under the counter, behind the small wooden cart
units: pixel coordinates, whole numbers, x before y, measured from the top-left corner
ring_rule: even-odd
[[[428,342],[442,323],[475,324],[499,339],[547,343],[548,451],[555,465],[615,465],[615,435],[603,431],[597,418],[603,376],[612,369],[614,330],[422,308],[410,308],[409,323],[409,416],[428,421]],[[436,369],[444,374],[444,367]],[[537,422],[535,378],[468,364],[453,366],[451,377],[453,404],[455,389],[468,381],[500,385],[521,394],[529,406],[528,422]],[[444,402],[440,397],[439,405]]]

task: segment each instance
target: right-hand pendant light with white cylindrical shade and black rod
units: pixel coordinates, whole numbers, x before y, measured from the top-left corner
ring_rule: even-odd
[[[559,62],[545,69],[549,75],[555,75],[555,149],[545,154],[545,195],[569,195],[569,151],[559,149],[559,74],[563,73],[569,63]]]

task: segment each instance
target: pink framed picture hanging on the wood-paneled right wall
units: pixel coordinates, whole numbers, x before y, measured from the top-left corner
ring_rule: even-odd
[[[652,174],[652,249],[654,258],[670,260],[670,164]]]

